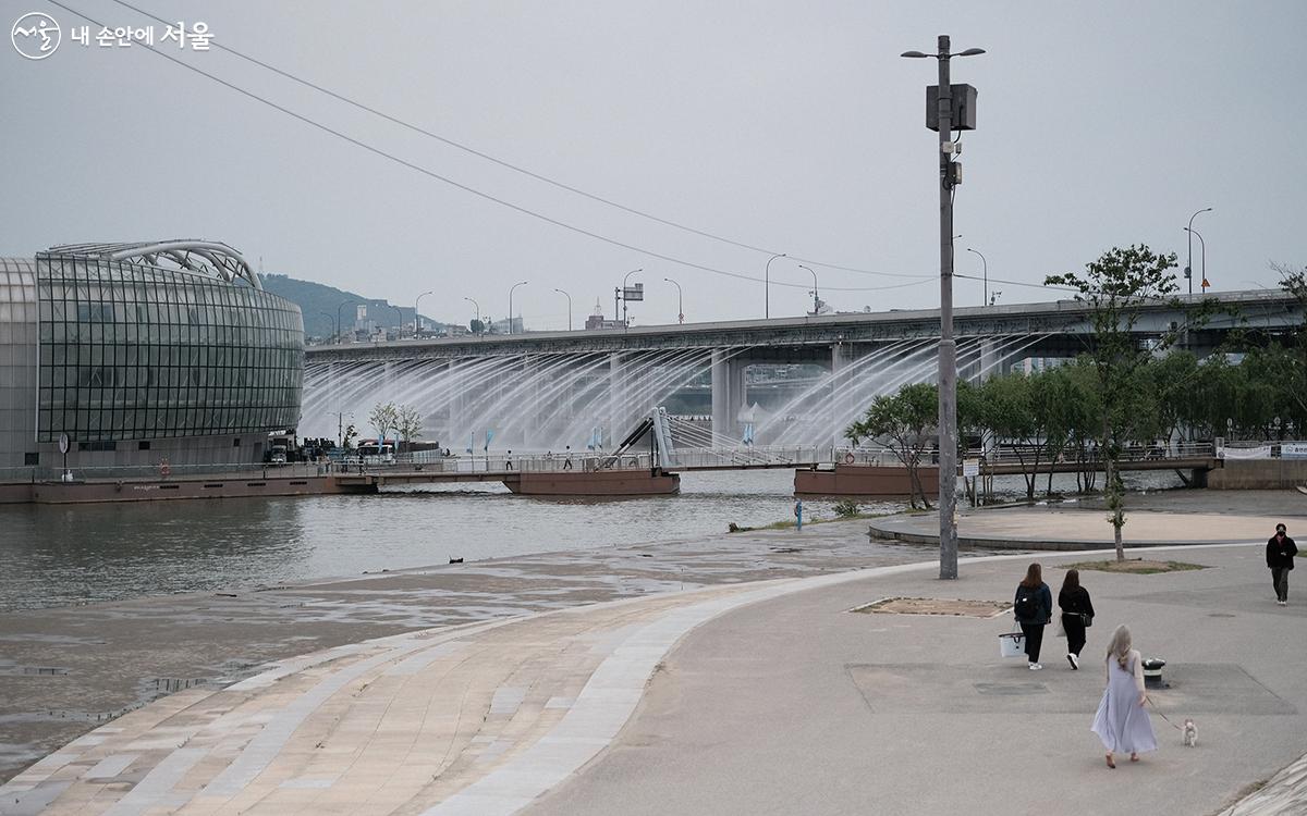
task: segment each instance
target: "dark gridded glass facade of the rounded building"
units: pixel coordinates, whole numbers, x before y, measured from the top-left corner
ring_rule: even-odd
[[[299,308],[207,274],[37,257],[37,437],[78,443],[293,428]]]

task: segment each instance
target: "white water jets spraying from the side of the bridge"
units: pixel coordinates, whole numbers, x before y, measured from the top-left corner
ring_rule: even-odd
[[[961,377],[978,381],[1000,371],[1040,339],[963,338]],[[716,424],[707,402],[718,390],[714,364],[748,368],[750,349],[310,362],[299,432],[335,439],[341,427],[354,424],[361,436],[371,436],[372,407],[395,402],[422,414],[416,441],[439,443],[455,453],[580,453],[610,449],[654,407],[667,406],[676,418],[677,445],[839,447],[847,444],[843,430],[876,396],[936,380],[937,342],[836,347],[829,371],[813,376],[809,363],[806,375],[783,388],[774,381],[748,383],[746,372],[737,371],[742,388],[729,397],[728,422]]]

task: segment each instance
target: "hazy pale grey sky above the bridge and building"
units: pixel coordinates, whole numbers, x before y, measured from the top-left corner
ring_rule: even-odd
[[[64,0],[61,0],[64,1]],[[1185,261],[1206,240],[1216,290],[1274,286],[1307,262],[1307,3],[195,3],[131,0],[207,22],[230,48],[502,161],[733,242],[808,262],[838,309],[938,303],[936,136],[924,86],[950,34],[953,80],[979,89],[963,137],[958,272],[1038,283],[1116,244]],[[67,0],[110,26],[163,26],[112,0]],[[637,325],[761,317],[769,253],[589,201],[359,112],[220,50],[169,54],[482,193],[639,249],[514,212],[396,165],[141,47],[72,42],[89,25],[0,0],[5,27],[46,12],[46,60],[3,46],[0,253],[58,243],[223,240],[267,272],[465,321],[528,328],[608,316],[623,274]],[[91,29],[91,37],[98,31]],[[1199,243],[1193,244],[1195,268]],[[810,306],[812,275],[771,265],[771,315]],[[1051,299],[992,283],[1000,303]],[[880,287],[840,291],[836,287]],[[884,289],[893,287],[893,289]],[[957,303],[982,300],[958,279]]]

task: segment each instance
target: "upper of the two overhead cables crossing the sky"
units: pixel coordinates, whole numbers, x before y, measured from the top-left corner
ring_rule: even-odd
[[[131,9],[133,12],[136,12],[137,14],[141,14],[142,17],[149,17],[150,20],[162,22],[165,25],[170,25],[170,22],[167,20],[163,20],[162,17],[159,17],[157,14],[152,14],[150,12],[148,12],[148,10],[145,10],[142,8],[139,8],[136,5],[132,5],[131,3],[125,3],[124,0],[114,0],[114,3],[116,3],[118,5],[122,5],[123,8],[127,8],[127,9]],[[677,230],[682,230],[685,232],[690,232],[690,234],[698,235],[701,238],[707,238],[710,240],[721,242],[724,244],[729,244],[732,247],[738,247],[741,249],[749,249],[752,252],[761,252],[763,255],[779,255],[778,251],[770,249],[767,247],[758,247],[755,244],[749,244],[749,243],[745,243],[745,242],[740,242],[740,240],[735,240],[735,239],[731,239],[731,238],[725,238],[723,235],[716,235],[716,234],[708,232],[706,230],[699,230],[699,228],[691,227],[689,225],[684,225],[684,223],[672,221],[669,218],[663,218],[660,215],[655,215],[652,213],[647,213],[644,210],[639,210],[639,209],[635,209],[633,206],[627,206],[627,205],[625,205],[625,204],[622,204],[620,201],[613,201],[612,198],[605,198],[604,196],[599,196],[599,195],[595,195],[595,193],[591,193],[591,192],[586,192],[584,189],[580,189],[580,188],[574,187],[571,184],[567,184],[565,181],[559,181],[557,179],[552,179],[552,178],[549,178],[546,175],[535,172],[533,170],[528,170],[527,167],[521,167],[520,165],[514,165],[512,162],[507,162],[507,161],[501,159],[501,158],[498,158],[495,155],[490,155],[489,153],[485,153],[482,150],[477,150],[476,148],[471,148],[468,145],[457,142],[457,141],[455,141],[455,140],[452,140],[452,138],[450,138],[447,136],[440,136],[439,133],[434,133],[434,132],[431,132],[431,131],[429,131],[429,129],[426,129],[426,128],[423,128],[421,125],[416,125],[416,124],[413,124],[410,121],[405,121],[404,119],[400,119],[399,116],[393,116],[391,114],[387,114],[386,111],[380,111],[380,110],[378,110],[375,107],[371,107],[369,104],[358,102],[357,99],[350,99],[349,97],[346,97],[344,94],[340,94],[337,91],[331,90],[329,87],[323,87],[322,85],[318,85],[316,82],[312,82],[310,80],[305,80],[303,77],[295,76],[295,74],[293,74],[289,71],[285,71],[282,68],[277,68],[276,65],[265,63],[265,61],[263,61],[263,60],[260,60],[257,57],[250,56],[248,54],[243,54],[240,51],[237,51],[235,48],[231,48],[230,46],[223,46],[222,43],[220,43],[217,40],[217,38],[210,39],[209,42],[210,42],[210,44],[214,48],[220,48],[222,51],[226,51],[231,56],[235,56],[235,57],[239,57],[242,60],[246,60],[247,63],[257,65],[257,67],[260,67],[260,68],[263,68],[265,71],[271,71],[272,73],[274,73],[274,74],[277,74],[280,77],[284,77],[286,80],[290,80],[291,82],[298,82],[299,85],[303,85],[305,87],[310,87],[310,89],[312,89],[312,90],[315,90],[315,91],[318,91],[320,94],[325,94],[327,97],[331,97],[332,99],[336,99],[337,102],[344,102],[345,104],[349,104],[349,106],[356,107],[356,108],[358,108],[361,111],[371,114],[372,116],[376,116],[379,119],[384,119],[386,121],[389,121],[391,124],[396,124],[396,125],[399,125],[401,128],[406,128],[406,129],[409,129],[409,131],[412,131],[414,133],[420,133],[422,136],[426,136],[427,138],[434,138],[435,141],[438,141],[440,144],[448,145],[448,146],[455,148],[457,150],[463,150],[464,153],[468,153],[468,154],[474,155],[477,158],[485,159],[488,162],[491,162],[494,165],[505,167],[505,168],[511,170],[514,172],[519,172],[519,174],[521,174],[524,176],[532,178],[532,179],[535,179],[537,181],[541,181],[544,184],[549,184],[549,185],[555,187],[558,189],[565,189],[565,191],[567,191],[570,193],[574,193],[576,196],[582,196],[583,198],[589,198],[591,201],[597,201],[599,204],[604,204],[606,206],[616,208],[618,210],[622,210],[623,213],[629,213],[631,215],[638,215],[640,218],[647,218],[650,221],[654,221],[654,222],[657,222],[657,223],[661,223],[664,226],[673,227],[673,228],[677,228]],[[844,265],[840,265],[840,264],[831,264],[829,261],[817,261],[817,260],[813,260],[813,259],[804,259],[804,257],[800,257],[800,256],[796,256],[796,255],[789,255],[788,257],[791,257],[795,261],[802,262],[802,264],[812,264],[814,266],[825,266],[827,269],[838,269],[838,270],[842,270],[842,272],[852,272],[852,273],[857,273],[857,274],[880,275],[880,277],[886,277],[886,278],[925,279],[925,278],[935,277],[935,275],[929,275],[929,274],[908,274],[908,273],[902,273],[902,272],[876,272],[873,269],[859,269],[856,266],[844,266]]]

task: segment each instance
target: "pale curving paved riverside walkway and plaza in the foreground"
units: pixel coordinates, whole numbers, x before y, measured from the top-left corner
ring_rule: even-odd
[[[120,717],[0,787],[0,812],[1212,813],[1299,760],[1307,603],[1273,603],[1256,547],[1175,554],[1202,571],[1086,572],[1099,618],[1078,672],[1052,636],[1043,672],[999,658],[1006,618],[850,611],[1010,601],[1030,557],[968,559],[958,582],[878,567],[342,645]],[[1084,559],[1039,557],[1050,584]],[[1153,695],[1162,749],[1110,772],[1087,727],[1116,621],[1171,661],[1171,688]],[[1162,714],[1193,717],[1199,748]],[[1282,776],[1261,795],[1302,812],[1303,770]]]

